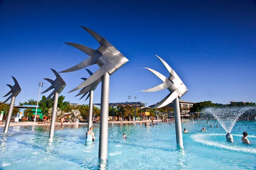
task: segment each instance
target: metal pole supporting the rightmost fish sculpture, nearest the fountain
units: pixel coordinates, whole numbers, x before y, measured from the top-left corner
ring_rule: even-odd
[[[174,99],[173,108],[174,108],[174,119],[175,119],[176,143],[178,147],[183,148],[179,97],[176,97]]]

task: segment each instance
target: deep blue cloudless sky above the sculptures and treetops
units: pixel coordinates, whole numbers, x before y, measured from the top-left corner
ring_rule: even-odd
[[[11,76],[22,88],[18,104],[37,99],[38,81],[55,79],[50,68],[62,71],[87,59],[64,44],[97,49],[99,43],[79,27],[85,26],[129,59],[111,75],[110,102],[125,102],[131,95],[131,101],[137,96],[137,101],[151,105],[169,94],[167,89],[140,91],[161,83],[143,67],[169,77],[155,54],[189,89],[183,100],[256,102],[255,0],[3,0],[0,23],[0,101],[9,91],[6,84],[13,84]],[[98,68],[89,67],[92,72]],[[84,69],[61,74],[67,83],[61,94],[67,101],[88,104],[74,97],[77,92],[67,93],[88,76]],[[50,85],[44,82],[42,90]],[[100,102],[100,91],[101,84],[94,92],[94,103]]]

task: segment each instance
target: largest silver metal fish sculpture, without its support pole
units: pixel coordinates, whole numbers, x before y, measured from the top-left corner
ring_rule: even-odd
[[[84,45],[67,42],[66,44],[78,48],[90,57],[83,62],[68,68],[67,70],[61,71],[60,73],[77,71],[93,64],[99,65],[100,68],[79,86],[70,91],[73,92],[83,88],[77,96],[90,91],[92,88],[98,85],[99,82],[102,81],[101,77],[104,74],[113,74],[116,70],[122,67],[122,65],[129,61],[120,51],[118,51],[110,42],[108,42],[108,40],[89,28],[82,28],[84,28],[93,38],[95,38],[95,40],[100,43],[100,46],[97,50],[94,50]]]

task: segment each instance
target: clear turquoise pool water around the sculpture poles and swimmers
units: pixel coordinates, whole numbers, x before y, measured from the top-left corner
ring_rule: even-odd
[[[98,162],[99,124],[94,124],[96,142],[86,143],[87,125],[55,127],[49,141],[49,126],[10,127],[3,134],[0,127],[0,169],[3,170],[195,170],[256,169],[256,122],[236,122],[231,134],[234,143],[226,142],[218,122],[206,120],[182,123],[184,150],[176,147],[175,125],[157,122],[156,126],[109,125],[108,161]],[[210,127],[213,124],[214,127]],[[219,125],[219,124],[218,124]],[[200,132],[206,127],[207,132]],[[252,144],[241,142],[247,131]],[[126,133],[127,139],[122,139]],[[104,169],[104,168],[102,168]]]

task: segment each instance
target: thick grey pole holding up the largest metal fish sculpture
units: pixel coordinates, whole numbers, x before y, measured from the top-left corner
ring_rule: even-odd
[[[102,94],[99,124],[99,159],[108,158],[109,79],[110,75],[108,73],[102,76]]]

